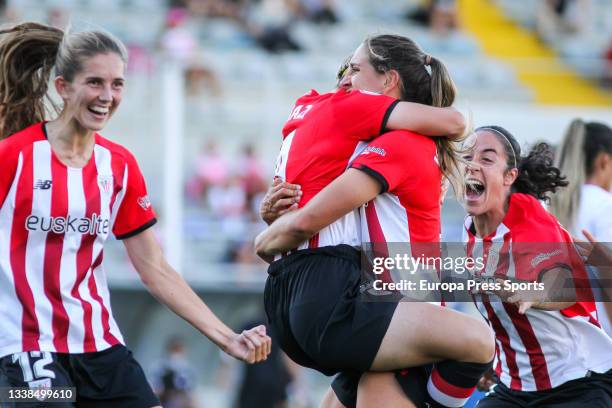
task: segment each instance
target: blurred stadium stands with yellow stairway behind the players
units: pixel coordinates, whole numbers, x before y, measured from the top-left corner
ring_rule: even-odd
[[[427,3],[432,3],[430,8]],[[554,8],[553,3],[565,8]],[[524,146],[558,142],[574,117],[612,124],[609,0],[9,0],[1,22],[105,28],[129,47],[121,109],[103,134],[145,174],[157,233],[177,267],[235,329],[262,318],[265,265],[251,241],[293,101],[334,86],[342,60],[372,33],[415,39],[443,60],[458,106]],[[249,148],[250,146],[250,148]],[[245,153],[253,150],[253,154]],[[443,208],[444,239],[464,213]],[[196,406],[229,407],[242,366],[143,288],[122,245],[106,270],[115,316],[153,379],[166,341],[181,338]],[[302,370],[291,406],[318,406],[329,380]]]

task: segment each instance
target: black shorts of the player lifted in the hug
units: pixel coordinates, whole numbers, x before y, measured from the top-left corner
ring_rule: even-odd
[[[270,265],[266,314],[298,364],[325,375],[370,369],[397,302],[362,301],[360,265],[349,245],[298,251]]]

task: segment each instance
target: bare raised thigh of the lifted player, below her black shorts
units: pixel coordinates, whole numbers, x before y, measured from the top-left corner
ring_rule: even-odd
[[[441,360],[488,363],[493,332],[480,319],[429,303],[400,302],[372,363],[391,371]]]

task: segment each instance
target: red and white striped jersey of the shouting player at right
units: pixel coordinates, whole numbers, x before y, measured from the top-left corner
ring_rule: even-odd
[[[476,305],[495,331],[495,370],[504,385],[518,391],[541,391],[589,371],[612,368],[612,340],[596,319],[584,265],[571,236],[534,197],[515,193],[496,231],[481,239],[472,219],[465,224],[467,254],[484,257],[483,275],[538,281],[556,267],[572,271],[578,302],[563,310],[528,309],[476,295]],[[556,243],[556,245],[555,245]],[[588,292],[588,293],[587,293]],[[586,295],[585,295],[586,293]]]

